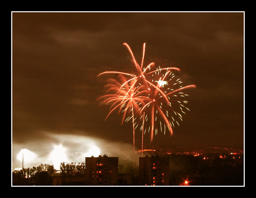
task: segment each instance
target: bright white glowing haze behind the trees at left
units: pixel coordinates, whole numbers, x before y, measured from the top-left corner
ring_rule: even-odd
[[[117,142],[107,142],[79,135],[50,134],[48,139],[37,140],[31,143],[13,144],[12,169],[22,168],[22,154],[24,151],[24,168],[37,167],[40,164],[53,165],[56,170],[60,163],[84,163],[85,157],[98,157],[99,155],[112,155],[122,157],[117,150],[133,150],[131,145]],[[26,149],[23,149],[25,148]],[[126,159],[128,157],[126,156]]]

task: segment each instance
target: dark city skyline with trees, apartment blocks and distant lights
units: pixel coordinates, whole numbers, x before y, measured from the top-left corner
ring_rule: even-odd
[[[26,177],[23,179],[21,178],[23,171],[14,171],[12,181],[15,186],[243,185],[243,154],[219,151],[194,154],[194,156],[185,153],[145,155],[145,157],[137,155],[139,162],[134,168],[131,162],[119,157],[91,156],[85,157],[85,163],[61,163],[60,170],[53,169],[49,164],[25,168]],[[49,176],[48,179],[37,177],[46,174]]]

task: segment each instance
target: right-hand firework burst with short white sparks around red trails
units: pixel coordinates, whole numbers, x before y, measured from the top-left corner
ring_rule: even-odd
[[[178,122],[182,121],[182,115],[187,110],[187,101],[184,97],[188,96],[183,93],[183,90],[188,88],[195,88],[195,85],[188,85],[182,87],[180,79],[176,78],[175,74],[170,70],[158,69],[151,72],[151,81],[155,83],[158,88],[149,88],[147,97],[147,103],[141,109],[146,113],[145,120],[143,118],[143,133],[148,131],[151,134],[151,141],[153,140],[154,134],[160,130],[164,134],[169,131],[170,135],[173,134],[175,125],[179,125]],[[168,104],[166,104],[165,98],[158,90],[162,90],[165,96],[168,98]],[[140,117],[142,119],[142,117]],[[179,121],[180,120],[180,121]]]

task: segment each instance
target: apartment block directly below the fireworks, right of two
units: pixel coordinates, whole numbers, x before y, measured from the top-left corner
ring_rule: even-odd
[[[169,185],[169,157],[140,157],[139,185],[168,186]]]

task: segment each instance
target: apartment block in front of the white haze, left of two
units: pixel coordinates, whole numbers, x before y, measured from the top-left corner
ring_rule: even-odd
[[[90,186],[115,185],[118,179],[118,157],[85,157],[85,184]]]

